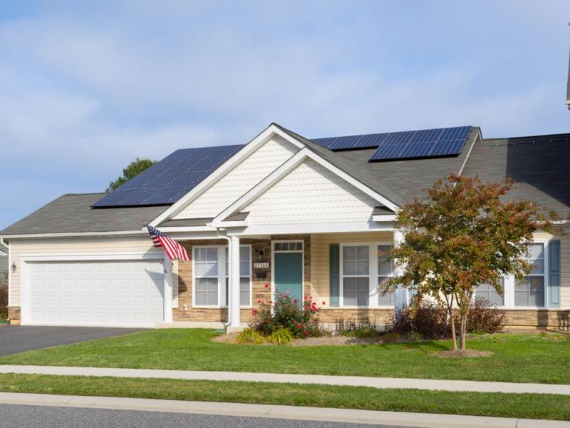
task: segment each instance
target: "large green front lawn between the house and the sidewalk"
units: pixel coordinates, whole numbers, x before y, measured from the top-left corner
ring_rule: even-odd
[[[212,330],[150,330],[0,357],[0,364],[132,367],[418,377],[570,384],[570,342],[541,335],[492,335],[468,347],[491,357],[442,359],[450,342],[292,347],[211,342]]]

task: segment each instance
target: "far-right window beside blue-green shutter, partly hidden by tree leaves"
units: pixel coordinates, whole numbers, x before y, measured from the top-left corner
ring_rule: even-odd
[[[514,280],[515,307],[544,307],[544,244],[532,244],[529,258],[532,271],[522,281]]]

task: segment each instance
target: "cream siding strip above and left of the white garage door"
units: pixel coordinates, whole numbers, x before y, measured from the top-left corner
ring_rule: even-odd
[[[10,241],[11,263],[16,272],[10,272],[10,305],[20,305],[21,257],[31,254],[93,254],[142,253],[154,250],[152,241],[145,235],[113,236],[101,238],[43,238]]]

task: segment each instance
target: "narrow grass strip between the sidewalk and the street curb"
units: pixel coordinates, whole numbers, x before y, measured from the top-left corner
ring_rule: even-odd
[[[554,394],[441,392],[256,382],[209,382],[0,374],[0,391],[570,419],[570,400]]]

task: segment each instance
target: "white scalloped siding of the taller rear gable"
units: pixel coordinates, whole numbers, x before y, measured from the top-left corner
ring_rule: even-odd
[[[192,200],[174,218],[215,217],[298,150],[284,138],[274,136]]]

